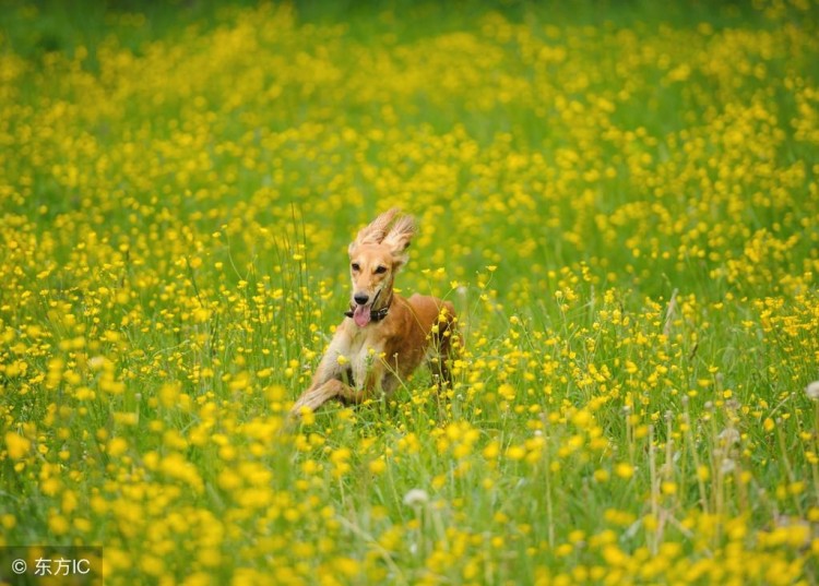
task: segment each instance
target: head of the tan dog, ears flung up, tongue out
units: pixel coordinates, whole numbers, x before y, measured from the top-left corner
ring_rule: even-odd
[[[396,218],[397,214],[395,207],[384,212],[361,228],[349,244],[353,319],[361,327],[369,323],[377,302],[389,301],[393,277],[407,261],[406,249],[415,234],[415,222],[412,216]]]

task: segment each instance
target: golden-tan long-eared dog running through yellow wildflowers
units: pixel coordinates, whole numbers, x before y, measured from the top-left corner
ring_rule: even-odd
[[[463,343],[454,307],[417,294],[405,299],[393,289],[414,235],[413,217],[392,208],[349,244],[349,310],[292,416],[333,398],[359,404],[389,396],[425,359],[440,385],[451,384],[451,358]]]

